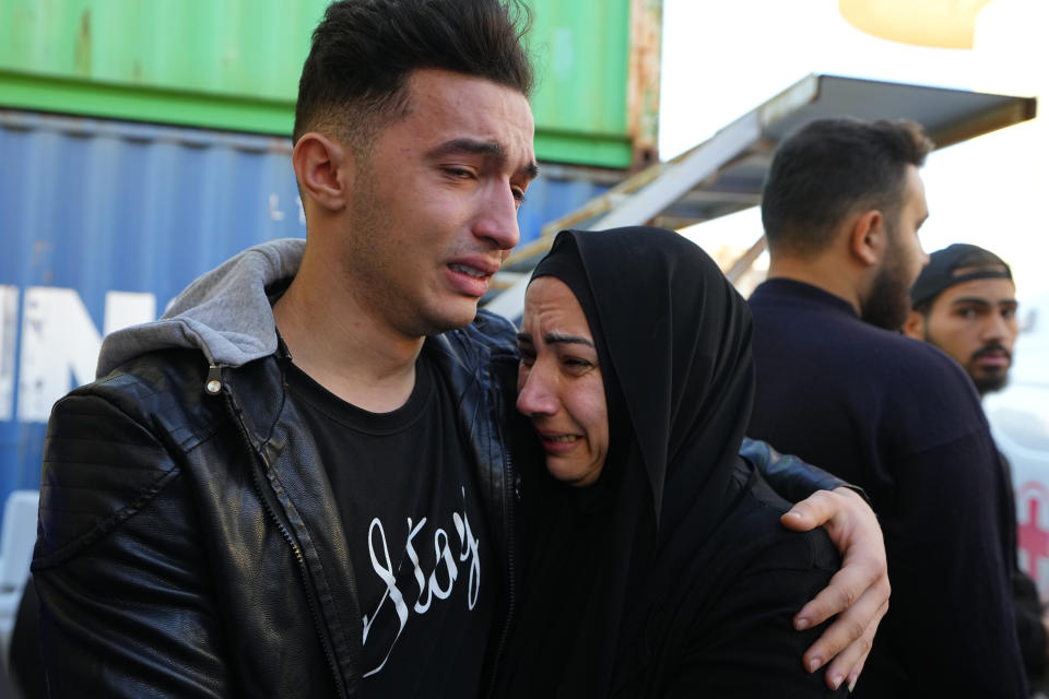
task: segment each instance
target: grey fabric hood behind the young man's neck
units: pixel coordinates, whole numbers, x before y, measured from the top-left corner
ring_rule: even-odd
[[[107,335],[96,376],[156,350],[197,348],[210,364],[232,367],[273,354],[276,323],[266,287],[295,276],[305,247],[302,238],[271,240],[197,277],[158,320]]]

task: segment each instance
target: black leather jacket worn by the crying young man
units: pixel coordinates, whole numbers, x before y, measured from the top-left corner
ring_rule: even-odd
[[[482,313],[426,345],[484,498],[497,638],[515,589],[514,329]],[[355,572],[282,364],[210,374],[199,351],[157,351],[56,405],[33,561],[52,697],[360,696]]]

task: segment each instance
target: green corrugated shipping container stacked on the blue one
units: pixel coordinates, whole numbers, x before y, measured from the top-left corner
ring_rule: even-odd
[[[658,22],[659,0],[634,1],[655,4],[636,14]],[[0,0],[0,106],[290,134],[299,71],[327,4]],[[529,4],[540,159],[629,166],[635,140],[655,143],[655,126],[639,137],[628,105],[629,61],[639,54],[630,0]],[[658,67],[658,34],[644,40],[657,44]],[[658,70],[641,78],[658,84]]]

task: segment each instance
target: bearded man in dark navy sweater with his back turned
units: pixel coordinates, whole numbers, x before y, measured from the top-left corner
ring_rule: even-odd
[[[906,121],[813,121],[777,152],[751,297],[750,435],[862,486],[885,533],[892,606],[859,697],[1026,696],[1007,565],[1007,483],[965,372],[898,329],[927,261]]]

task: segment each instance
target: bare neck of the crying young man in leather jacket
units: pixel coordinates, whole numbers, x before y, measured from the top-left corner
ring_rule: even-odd
[[[342,400],[373,413],[403,405],[424,337],[408,337],[303,260],[273,306],[292,362]]]

